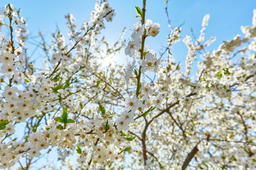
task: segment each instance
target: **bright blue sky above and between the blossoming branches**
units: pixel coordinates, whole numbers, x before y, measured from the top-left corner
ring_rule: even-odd
[[[105,40],[113,43],[119,38],[122,29],[126,27],[124,39],[129,39],[132,34],[132,25],[138,21],[138,18],[135,18],[137,13],[134,6],[142,8],[142,0],[110,0],[109,2],[110,6],[114,8],[116,16],[111,23],[106,24],[106,29],[102,30],[100,36],[105,35]],[[67,13],[73,13],[77,20],[77,28],[80,28],[85,21],[89,21],[95,0],[0,0],[0,6],[6,4],[14,4],[16,8],[21,8],[21,16],[26,19],[28,24],[29,36],[36,36],[41,31],[46,41],[50,43],[52,40],[51,33],[56,30],[57,25],[65,35],[65,39],[68,40],[68,29],[64,18]],[[149,45],[149,49],[153,49],[157,53],[162,46],[167,45],[166,35],[169,33],[164,8],[164,0],[146,1],[146,19],[149,18],[161,25],[159,35],[155,38],[146,39],[146,45]],[[213,42],[212,47],[217,48],[224,40],[231,40],[235,35],[241,34],[240,26],[251,26],[252,11],[256,8],[256,0],[170,0],[168,8],[171,26],[174,28],[183,23],[181,39],[185,38],[186,34],[191,34],[191,28],[198,38],[203,16],[209,13],[210,20],[206,28],[206,40],[215,35],[217,40]],[[29,55],[36,46],[31,44],[27,46],[29,47]],[[183,42],[174,45],[173,54],[176,61],[184,63],[187,51]],[[42,63],[43,53],[41,55],[38,52],[33,57],[38,59],[36,62],[38,65]],[[125,63],[124,52],[116,56],[115,60]],[[50,155],[51,159],[56,156],[54,151]],[[47,160],[44,159],[38,164],[45,164],[46,162]]]

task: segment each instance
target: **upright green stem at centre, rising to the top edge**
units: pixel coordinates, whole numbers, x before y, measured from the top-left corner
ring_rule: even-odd
[[[146,14],[146,0],[143,0],[143,8],[142,8],[142,26],[145,23],[145,14]],[[146,39],[146,31],[144,31],[144,35],[142,35],[142,50],[141,50],[141,60],[144,59],[144,44]],[[139,96],[139,89],[140,89],[140,79],[142,77],[142,66],[139,66],[139,75],[137,77],[137,89],[136,89],[136,96]]]

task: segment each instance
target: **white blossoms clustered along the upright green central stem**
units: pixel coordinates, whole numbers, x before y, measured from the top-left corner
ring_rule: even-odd
[[[138,8],[138,7],[137,7]],[[142,16],[141,16],[142,17]],[[145,18],[142,17],[142,20]],[[139,79],[141,74],[146,74],[146,71],[157,72],[161,59],[156,56],[154,50],[149,50],[149,47],[144,45],[147,37],[155,37],[160,32],[161,26],[159,23],[153,23],[151,20],[146,20],[145,23],[135,23],[132,29],[132,40],[129,40],[125,48],[125,54],[133,57],[134,61],[128,62],[124,69],[125,82],[129,84],[129,79],[132,74],[137,78],[137,89],[139,93],[133,94],[125,98],[125,106],[122,115],[117,118],[117,129],[128,130],[128,125],[134,123],[134,115],[136,111],[139,113],[146,113],[153,111],[152,108],[162,108],[164,103],[163,96],[153,96],[153,91],[149,82],[142,81],[139,86]],[[136,69],[136,59],[138,60],[139,69]]]

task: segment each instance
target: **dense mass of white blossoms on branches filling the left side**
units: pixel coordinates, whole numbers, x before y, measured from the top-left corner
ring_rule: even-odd
[[[88,102],[88,98],[100,96],[104,87],[100,81],[91,79],[92,74],[97,76],[96,69],[91,67],[98,66],[88,66],[88,62],[94,61],[85,57],[90,54],[88,47],[94,47],[92,40],[96,40],[96,35],[105,28],[104,20],[112,21],[113,16],[114,10],[106,1],[95,5],[91,21],[84,23],[79,31],[75,29],[72,14],[65,16],[70,29],[68,36],[73,45],[68,50],[62,33],[54,33],[53,45],[46,50],[48,64],[43,72],[35,74],[26,54],[26,21],[18,16],[13,5],[5,6],[1,13],[1,24],[10,28],[11,40],[1,36],[1,168],[9,169],[23,155],[30,160],[26,164],[28,167],[32,159],[41,156],[43,150],[53,147],[76,151],[78,163],[85,169],[97,168],[107,162],[117,164],[124,152],[129,151],[127,142],[133,138],[117,130],[109,111],[102,111],[88,120],[78,116],[68,119],[68,113],[80,112],[77,113],[80,115],[84,112],[91,100]],[[5,18],[9,18],[9,25],[5,24]],[[76,52],[71,52],[74,49]],[[70,72],[66,72],[65,67],[70,67]],[[86,86],[73,86],[82,82],[82,77],[87,77]],[[24,88],[20,84],[24,84]],[[60,109],[62,106],[63,109]],[[97,108],[90,107],[90,111],[97,112]],[[46,123],[43,123],[43,119],[47,120]],[[11,136],[19,133],[16,125],[21,123],[27,124],[23,140],[12,140]],[[38,128],[40,126],[42,128]]]

